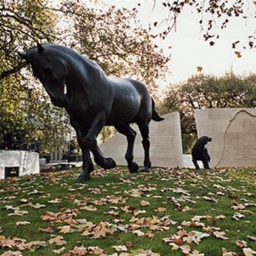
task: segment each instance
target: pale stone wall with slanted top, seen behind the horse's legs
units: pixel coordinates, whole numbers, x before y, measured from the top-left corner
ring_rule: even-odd
[[[150,157],[152,166],[183,167],[182,139],[180,131],[180,116],[178,112],[163,115],[161,122],[150,122]],[[134,159],[143,166],[144,150],[141,145],[141,135],[137,125],[133,126],[137,136],[134,143]],[[127,140],[124,135],[116,134],[100,145],[106,156],[113,157],[116,164],[126,165],[125,152]]]

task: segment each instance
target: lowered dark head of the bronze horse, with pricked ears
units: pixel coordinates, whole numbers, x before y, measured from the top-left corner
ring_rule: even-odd
[[[19,53],[20,57],[28,61],[33,69],[33,75],[40,80],[55,106],[65,107],[65,83],[67,65],[60,57],[52,54],[49,47],[37,44],[26,53]]]

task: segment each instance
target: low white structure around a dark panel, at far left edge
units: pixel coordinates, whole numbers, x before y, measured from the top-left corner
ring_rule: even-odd
[[[0,150],[0,179],[6,177],[6,168],[19,167],[19,176],[39,173],[39,154],[24,150]]]

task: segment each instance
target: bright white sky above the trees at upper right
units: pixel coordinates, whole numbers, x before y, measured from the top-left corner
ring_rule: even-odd
[[[129,9],[138,7],[137,4],[141,3],[141,6],[138,7],[138,18],[145,28],[148,28],[149,22],[162,20],[167,14],[165,8],[161,7],[163,2],[161,0],[156,0],[157,4],[154,11],[152,11],[153,0],[104,0],[103,2],[118,8]],[[234,54],[236,50],[231,47],[231,44],[236,40],[247,40],[248,36],[252,35],[256,29],[256,22],[253,19],[255,6],[252,1],[246,3],[250,7],[246,13],[248,19],[231,18],[226,29],[223,31],[219,29],[220,39],[216,41],[214,46],[210,46],[209,42],[205,42],[202,38],[198,26],[200,16],[191,13],[191,9],[186,9],[179,17],[177,31],[173,31],[166,40],[157,41],[166,54],[172,54],[172,60],[168,65],[171,74],[168,75],[166,82],[161,83],[161,87],[170,83],[185,81],[189,76],[196,74],[196,67],[198,66],[203,68],[204,73],[216,76],[225,74],[231,68],[236,74],[256,72],[256,49],[242,51],[243,57],[237,58]],[[168,49],[169,46],[172,49]],[[241,48],[237,50],[241,50]]]

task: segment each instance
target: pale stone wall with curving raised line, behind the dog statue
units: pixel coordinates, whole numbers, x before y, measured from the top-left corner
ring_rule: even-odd
[[[213,167],[256,166],[256,109],[198,109],[198,137],[209,136]]]

